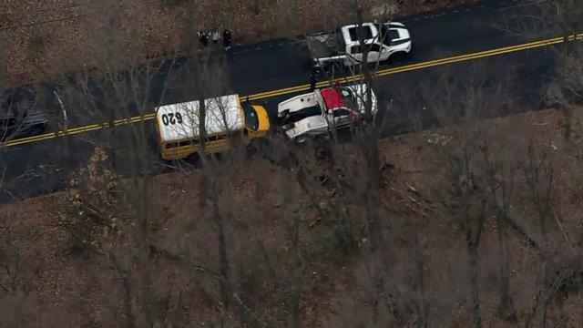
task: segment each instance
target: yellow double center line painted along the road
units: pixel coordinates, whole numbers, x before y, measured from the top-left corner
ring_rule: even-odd
[[[524,51],[524,50],[528,50],[528,49],[534,49],[534,48],[538,48],[538,47],[542,47],[542,46],[553,46],[553,45],[557,45],[557,44],[564,43],[564,42],[573,42],[573,41],[581,41],[581,40],[583,40],[583,33],[579,33],[577,35],[568,36],[568,37],[562,37],[562,36],[554,37],[554,38],[550,38],[550,39],[546,39],[546,40],[530,42],[527,44],[522,44],[522,45],[517,45],[517,46],[506,46],[506,47],[501,47],[501,48],[497,48],[497,49],[491,49],[491,50],[471,53],[471,54],[467,54],[467,55],[451,56],[451,57],[446,57],[446,58],[441,58],[441,59],[430,60],[430,61],[426,61],[423,63],[406,65],[403,67],[386,68],[386,69],[374,72],[373,77],[384,77],[384,76],[388,76],[388,75],[392,75],[392,74],[403,73],[403,72],[408,72],[408,71],[417,70],[417,69],[423,69],[423,68],[428,68],[428,67],[438,67],[438,66],[443,66],[443,65],[448,65],[448,64],[464,62],[464,61],[468,61],[468,60],[485,58],[488,56],[498,56],[498,55],[510,54],[510,53]],[[351,82],[360,80],[362,78],[363,78],[362,75],[354,75],[351,77],[339,77],[339,78],[334,78],[332,80],[318,82],[316,84],[316,87],[327,87],[327,86],[330,86],[331,84],[338,84],[338,83],[340,83],[340,84],[351,83]],[[295,92],[307,91],[309,89],[310,89],[310,85],[304,84],[301,86],[285,87],[285,88],[281,88],[278,90],[260,92],[260,93],[254,94],[254,95],[250,95],[249,97],[241,97],[241,98],[242,99],[248,98],[250,101],[251,100],[259,100],[259,99],[264,99],[264,98],[268,98],[268,97],[276,97],[276,96],[292,94]],[[88,126],[84,126],[84,127],[68,128],[66,130],[61,130],[61,131],[57,131],[57,132],[50,132],[50,133],[37,135],[37,136],[33,136],[33,137],[17,138],[17,139],[6,142],[5,146],[8,146],[8,147],[18,146],[18,145],[24,145],[27,143],[32,143],[32,142],[41,141],[41,140],[59,138],[59,137],[64,137],[64,136],[73,136],[73,135],[78,135],[78,134],[82,134],[82,133],[87,133],[90,131],[104,129],[104,128],[114,128],[114,127],[118,127],[118,126],[122,126],[122,125],[126,125],[126,124],[134,124],[134,123],[138,123],[138,122],[144,122],[144,121],[151,120],[155,117],[156,117],[156,114],[151,113],[151,114],[147,114],[144,116],[118,119],[118,120],[115,120],[113,122],[113,127],[111,124],[109,124],[109,122],[106,122],[106,123],[102,123],[102,124],[92,124],[92,125],[88,125]]]

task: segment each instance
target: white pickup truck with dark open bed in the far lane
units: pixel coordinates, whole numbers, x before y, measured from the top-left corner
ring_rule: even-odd
[[[404,57],[411,51],[411,36],[401,23],[364,23],[361,27],[364,45],[368,46],[367,63],[384,61],[392,56]],[[363,62],[358,25],[307,36],[306,43],[314,67],[353,66]]]

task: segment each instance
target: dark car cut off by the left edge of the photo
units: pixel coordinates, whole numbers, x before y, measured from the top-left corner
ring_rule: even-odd
[[[0,97],[0,139],[42,133],[48,122],[32,88],[6,91]]]

